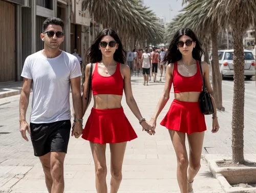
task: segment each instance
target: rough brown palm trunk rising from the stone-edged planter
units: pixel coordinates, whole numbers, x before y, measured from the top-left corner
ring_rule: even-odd
[[[232,161],[244,163],[244,44],[246,28],[231,22],[233,33],[234,88],[232,106]]]

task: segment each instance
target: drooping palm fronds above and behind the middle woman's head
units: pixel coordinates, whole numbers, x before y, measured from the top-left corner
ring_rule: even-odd
[[[83,0],[83,9],[89,9],[104,28],[116,30],[125,47],[147,42],[161,42],[162,32],[154,13],[136,0]],[[130,44],[130,46],[128,46]]]

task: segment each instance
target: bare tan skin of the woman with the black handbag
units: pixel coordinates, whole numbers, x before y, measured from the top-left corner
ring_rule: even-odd
[[[183,35],[179,38],[179,41],[185,42],[187,39],[191,39],[190,37]],[[182,53],[182,59],[178,61],[178,71],[183,76],[193,76],[197,73],[197,65],[196,60],[192,57],[193,48],[196,46],[196,42],[193,42],[191,46],[184,46],[182,48],[178,48],[179,51]],[[188,74],[186,68],[182,65],[186,65],[188,69]],[[152,116],[151,121],[149,122],[153,129],[155,130],[156,127],[156,120],[159,114],[161,113],[162,109],[164,108],[165,104],[169,99],[170,89],[173,83],[173,70],[174,70],[174,63],[170,63],[166,68],[166,81],[163,94],[158,102],[156,111]],[[202,71],[203,77],[205,82],[205,87],[207,91],[214,96],[214,92],[212,91],[210,81],[209,81],[209,66],[206,62],[202,61]],[[175,99],[179,101],[185,102],[198,102],[199,101],[200,92],[182,92],[182,93],[175,93]],[[216,104],[214,98],[211,97],[212,103],[214,105],[215,113],[212,117],[217,117],[216,111]],[[217,133],[219,131],[219,123],[218,119],[212,119],[212,133]],[[193,182],[195,176],[197,175],[200,169],[200,160],[201,160],[201,153],[202,153],[202,145],[204,139],[204,132],[201,133],[193,133],[187,135],[188,144],[189,144],[189,160],[186,152],[185,147],[185,134],[180,133],[174,130],[168,130],[170,134],[170,138],[172,139],[176,156],[177,156],[177,178],[181,193],[188,193],[189,191],[193,190],[192,184],[188,182]]]

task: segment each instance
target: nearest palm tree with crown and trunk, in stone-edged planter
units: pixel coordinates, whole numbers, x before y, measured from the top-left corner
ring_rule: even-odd
[[[255,0],[213,0],[210,12],[218,23],[228,21],[233,35],[232,161],[244,160],[244,45],[243,37],[255,20]]]

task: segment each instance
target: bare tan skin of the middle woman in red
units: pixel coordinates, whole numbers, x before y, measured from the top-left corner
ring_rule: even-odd
[[[110,42],[114,40],[111,36],[102,37],[101,41]],[[102,48],[99,45],[99,49],[102,53],[102,60],[98,62],[98,73],[101,76],[111,76],[115,73],[117,68],[117,63],[114,61],[114,53],[118,49],[118,44],[114,48],[111,48],[109,45],[106,48]],[[104,64],[104,65],[103,65]],[[88,79],[90,75],[91,64],[86,66],[86,81],[84,83],[84,91],[82,96],[82,112],[83,115],[86,112],[88,106],[86,96],[87,96],[87,85]],[[95,70],[95,64],[93,66],[93,71]],[[129,66],[120,64],[120,72],[124,79],[124,94],[126,98],[126,103],[136,116],[138,120],[142,118],[140,111],[138,109],[137,103],[133,97],[132,85],[131,85],[131,73]],[[92,92],[92,91],[90,91]],[[90,94],[92,96],[92,93]],[[120,95],[112,95],[112,94],[99,94],[94,95],[94,104],[93,107],[96,109],[117,109],[121,108],[121,100],[122,96]],[[89,99],[89,101],[91,98]],[[152,126],[148,125],[146,121],[141,123],[143,127],[142,131],[145,130],[148,134],[154,135],[154,131],[152,131]],[[121,125],[120,125],[121,127]],[[96,189],[97,193],[107,193],[106,186],[106,158],[105,158],[105,149],[106,144],[98,144],[90,142],[92,155],[95,164],[95,175],[96,175]],[[122,143],[111,143],[110,151],[111,151],[111,193],[117,193],[121,180],[122,180],[122,163],[125,152],[126,142]]]

